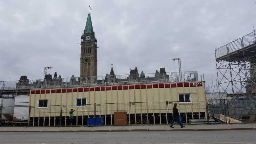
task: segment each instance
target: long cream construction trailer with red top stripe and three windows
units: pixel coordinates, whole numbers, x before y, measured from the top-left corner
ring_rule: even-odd
[[[147,83],[131,85],[37,89],[30,91],[31,126],[67,125],[70,108],[75,125],[88,117],[105,117],[114,124],[114,112],[127,112],[130,124],[167,124],[173,104],[178,104],[183,123],[206,118],[203,82]]]

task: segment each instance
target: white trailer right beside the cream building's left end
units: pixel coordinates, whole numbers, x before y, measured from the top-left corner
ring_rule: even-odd
[[[14,97],[14,113],[16,120],[29,119],[29,95],[19,95]]]

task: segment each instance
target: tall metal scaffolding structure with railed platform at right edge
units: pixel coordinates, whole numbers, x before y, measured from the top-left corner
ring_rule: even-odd
[[[219,92],[233,98],[237,93],[242,97],[256,96],[255,30],[216,49],[215,58]]]

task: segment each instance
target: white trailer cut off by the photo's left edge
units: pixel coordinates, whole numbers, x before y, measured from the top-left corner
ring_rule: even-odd
[[[14,99],[12,98],[0,98],[0,120],[5,120],[6,118],[3,116],[3,114],[13,114],[14,112]]]

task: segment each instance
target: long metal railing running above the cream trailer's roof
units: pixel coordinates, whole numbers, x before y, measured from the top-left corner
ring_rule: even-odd
[[[50,89],[186,81],[198,81],[197,71],[182,72],[182,81],[180,81],[179,72],[4,81],[0,82],[0,90]]]

